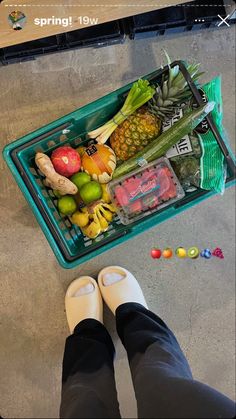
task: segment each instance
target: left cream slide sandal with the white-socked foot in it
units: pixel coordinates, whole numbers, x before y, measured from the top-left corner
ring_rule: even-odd
[[[80,294],[83,292],[83,294]],[[84,319],[103,322],[102,297],[95,279],[81,276],[68,287],[65,296],[66,316],[71,333]]]

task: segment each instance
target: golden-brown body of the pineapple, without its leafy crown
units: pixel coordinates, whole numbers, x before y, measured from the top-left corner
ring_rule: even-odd
[[[143,106],[115,129],[110,137],[111,147],[118,160],[128,160],[158,137],[160,132],[160,118]]]

